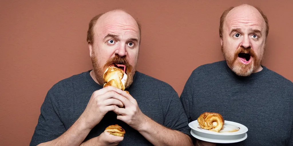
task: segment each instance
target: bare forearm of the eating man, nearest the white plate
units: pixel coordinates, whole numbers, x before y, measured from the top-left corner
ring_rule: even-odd
[[[149,117],[146,118],[145,126],[139,130],[149,142],[155,146],[168,145],[168,146],[177,146],[177,145],[193,145],[191,138],[176,130],[166,128]]]

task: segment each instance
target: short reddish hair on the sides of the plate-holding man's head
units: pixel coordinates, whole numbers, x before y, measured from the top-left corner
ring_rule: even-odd
[[[225,18],[227,16],[227,14],[233,9],[234,7],[230,7],[228,8],[227,10],[225,10],[220,18],[220,26],[219,26],[219,33],[220,33],[220,37],[223,37],[223,27],[224,27],[224,21],[225,21]],[[263,19],[265,20],[265,25],[266,25],[266,36],[265,37],[268,37],[268,34],[269,34],[269,20],[267,18],[267,16],[263,13],[263,11],[261,11],[260,8],[258,7],[255,7],[258,12],[263,16]]]

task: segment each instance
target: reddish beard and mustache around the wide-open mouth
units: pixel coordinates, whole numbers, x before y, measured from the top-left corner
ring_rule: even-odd
[[[250,47],[244,48],[243,46],[241,46],[235,51],[234,55],[229,55],[227,48],[223,43],[221,50],[224,54],[224,58],[228,66],[238,76],[247,77],[251,75],[260,66],[261,59],[257,57],[255,52]],[[249,54],[250,59],[252,59],[251,62],[249,62],[248,64],[243,64],[242,62],[240,62],[238,57],[239,53]]]

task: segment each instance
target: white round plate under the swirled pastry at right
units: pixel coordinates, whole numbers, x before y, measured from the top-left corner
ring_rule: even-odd
[[[197,120],[190,122],[188,126],[192,129],[190,133],[193,137],[207,142],[234,143],[243,141],[247,138],[246,132],[248,128],[246,126],[226,120],[224,123],[224,126],[237,126],[240,130],[236,132],[213,132],[200,128]]]

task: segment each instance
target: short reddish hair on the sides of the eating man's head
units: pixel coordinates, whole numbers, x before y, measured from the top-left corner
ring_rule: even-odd
[[[124,11],[125,12],[125,11]],[[91,43],[93,44],[93,37],[94,37],[94,32],[93,32],[93,28],[95,26],[95,24],[97,23],[97,20],[105,13],[100,13],[98,15],[96,15],[95,17],[93,17],[91,19],[91,21],[88,23],[88,32],[87,32],[87,36],[86,36],[86,41],[88,43]],[[141,25],[139,24],[139,22],[137,22],[136,20],[136,23],[138,25],[138,29],[139,29],[139,35],[141,37]]]

